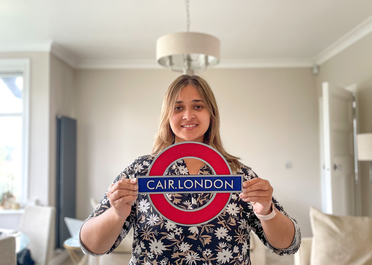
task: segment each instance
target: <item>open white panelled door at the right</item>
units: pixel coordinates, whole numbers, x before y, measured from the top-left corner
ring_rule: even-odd
[[[323,210],[355,215],[353,94],[327,82],[322,91]]]

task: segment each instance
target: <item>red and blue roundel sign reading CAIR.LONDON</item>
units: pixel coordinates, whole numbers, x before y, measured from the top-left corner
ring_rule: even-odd
[[[210,166],[213,175],[165,175],[177,160],[196,158]],[[166,219],[186,226],[215,219],[226,207],[232,192],[241,192],[243,175],[232,175],[225,158],[209,145],[199,142],[176,143],[161,152],[146,176],[137,176],[139,193],[148,193],[153,207]],[[176,207],[166,193],[215,193],[205,207],[185,210]]]

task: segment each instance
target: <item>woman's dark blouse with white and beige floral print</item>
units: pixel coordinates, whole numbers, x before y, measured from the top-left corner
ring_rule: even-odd
[[[124,178],[146,175],[154,158],[151,155],[137,158],[117,176],[114,183]],[[170,166],[166,174],[187,175],[189,171],[185,162],[180,159]],[[199,174],[212,174],[212,170],[204,165]],[[243,174],[244,181],[257,178],[253,170],[243,164],[236,174]],[[168,200],[181,209],[202,207],[212,196],[212,193],[167,194]],[[288,216],[275,198],[273,202],[278,211]],[[98,216],[109,208],[110,202],[105,194],[89,218]],[[148,194],[138,194],[115,244],[105,254],[113,251],[128,231],[134,229],[130,265],[251,264],[251,231],[278,255],[297,252],[301,244],[300,228],[296,220],[289,218],[295,226],[294,240],[287,249],[277,249],[265,238],[260,220],[253,213],[252,204],[243,201],[238,193],[231,195],[230,201],[218,217],[196,226],[183,226],[163,218],[152,207]],[[97,256],[89,252],[82,242],[81,247],[86,254]]]

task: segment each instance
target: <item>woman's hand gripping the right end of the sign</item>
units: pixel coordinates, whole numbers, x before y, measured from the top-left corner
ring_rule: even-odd
[[[239,196],[244,201],[252,203],[254,211],[260,215],[271,213],[271,200],[273,197],[273,187],[270,182],[260,178],[254,178],[243,183],[243,193]]]

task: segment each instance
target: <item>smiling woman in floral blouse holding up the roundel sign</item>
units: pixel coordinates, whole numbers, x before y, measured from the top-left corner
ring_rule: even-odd
[[[129,264],[250,264],[250,231],[279,255],[295,253],[301,243],[297,222],[288,217],[272,198],[273,188],[251,168],[223,148],[219,112],[214,94],[205,80],[182,75],[166,93],[160,130],[153,154],[139,157],[109,187],[81,229],[85,253],[110,253],[134,229]],[[219,151],[233,174],[243,174],[243,192],[233,194],[227,207],[214,220],[198,226],[181,226],[162,218],[147,194],[138,194],[138,175],[146,175],[155,156],[173,143],[203,142]],[[185,158],[170,166],[166,174],[211,174],[202,161]],[[195,209],[212,194],[167,194],[177,207]]]

